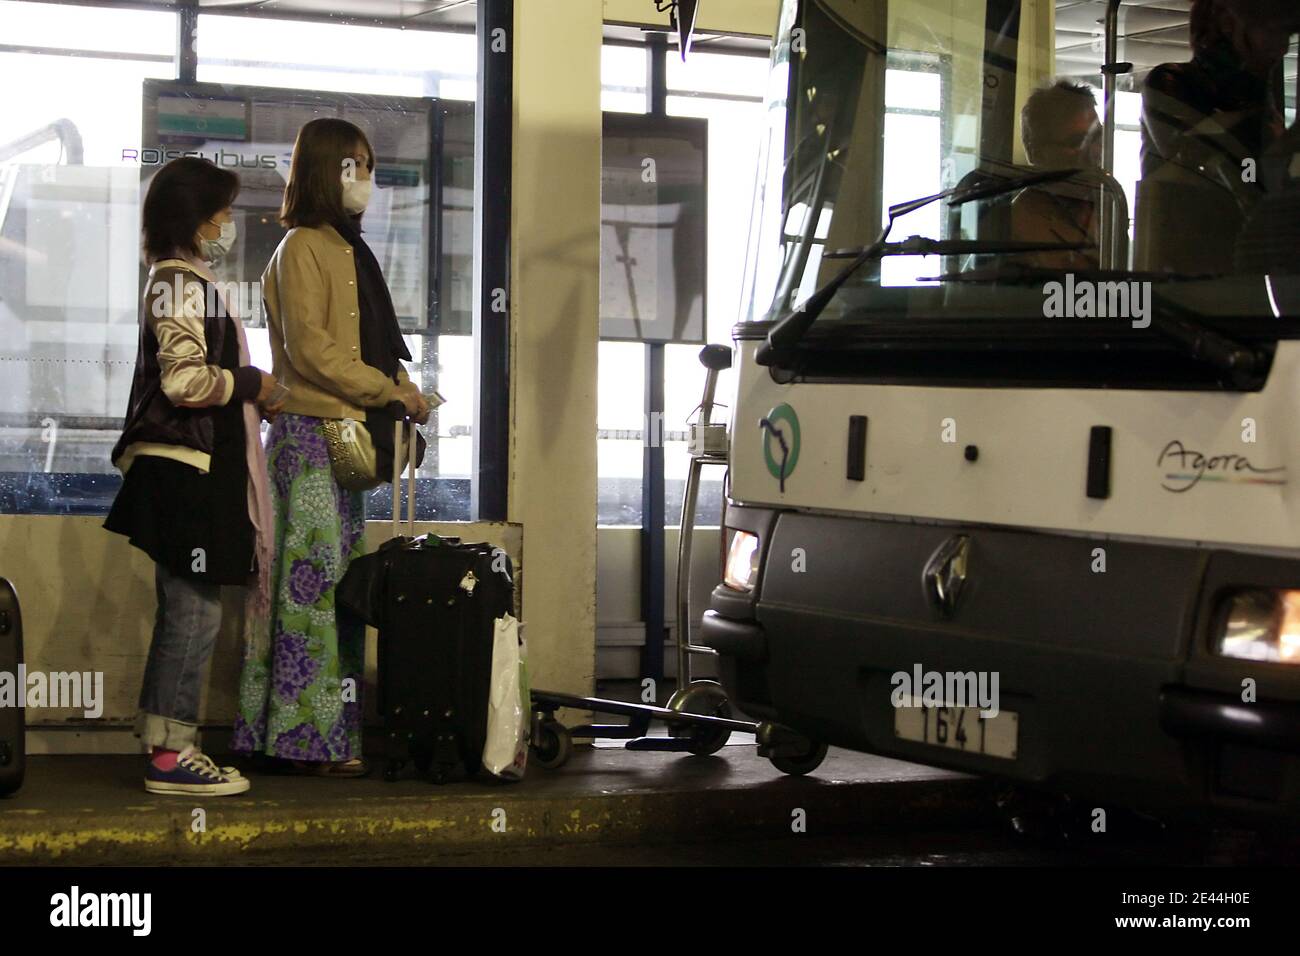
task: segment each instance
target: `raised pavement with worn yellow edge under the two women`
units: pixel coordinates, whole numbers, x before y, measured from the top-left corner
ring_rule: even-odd
[[[238,760],[221,760],[218,763]],[[711,757],[578,748],[519,783],[443,786],[255,775],[235,797],[144,792],[139,756],[34,756],[0,800],[0,865],[560,862],[575,852],[806,834],[987,825],[993,787],[962,774],[832,749],[785,777],[753,745]],[[614,852],[614,857],[618,853]]]

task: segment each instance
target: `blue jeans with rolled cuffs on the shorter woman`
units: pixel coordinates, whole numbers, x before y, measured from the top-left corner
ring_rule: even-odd
[[[135,734],[150,747],[183,750],[198,741],[199,696],[221,628],[221,585],[155,568],[159,610]]]

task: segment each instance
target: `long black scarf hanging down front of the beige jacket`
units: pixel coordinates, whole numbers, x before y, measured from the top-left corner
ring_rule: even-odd
[[[361,362],[396,381],[399,363],[411,360],[411,350],[407,349],[406,339],[402,338],[402,326],[398,325],[396,310],[393,308],[393,297],[389,294],[387,282],[384,281],[380,260],[374,258],[374,252],[361,238],[360,216],[335,222],[334,229],[352,247],[352,258],[356,260]],[[387,479],[393,473],[393,424],[404,414],[406,410],[400,402],[390,402],[386,408],[365,410],[365,429],[370,433],[370,442],[374,445],[380,477]],[[417,467],[424,460],[424,437],[417,433]]]

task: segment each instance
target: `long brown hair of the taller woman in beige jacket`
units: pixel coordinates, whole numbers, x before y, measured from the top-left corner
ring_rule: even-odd
[[[294,157],[289,164],[289,182],[285,200],[280,206],[280,224],[318,226],[342,222],[343,163],[352,157],[358,146],[364,146],[369,156],[367,168],[374,169],[374,150],[358,126],[347,120],[321,117],[298,130]]]

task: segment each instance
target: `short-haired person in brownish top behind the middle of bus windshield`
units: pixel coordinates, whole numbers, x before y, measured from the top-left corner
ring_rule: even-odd
[[[1039,169],[1100,169],[1101,118],[1092,87],[1060,79],[1037,90],[1020,111],[1020,138],[1030,165]],[[1032,252],[1018,259],[1043,269],[1095,269],[1098,265],[1097,203],[1067,183],[1023,190],[1011,203],[1011,235],[1020,242],[1088,243],[1088,248]]]

